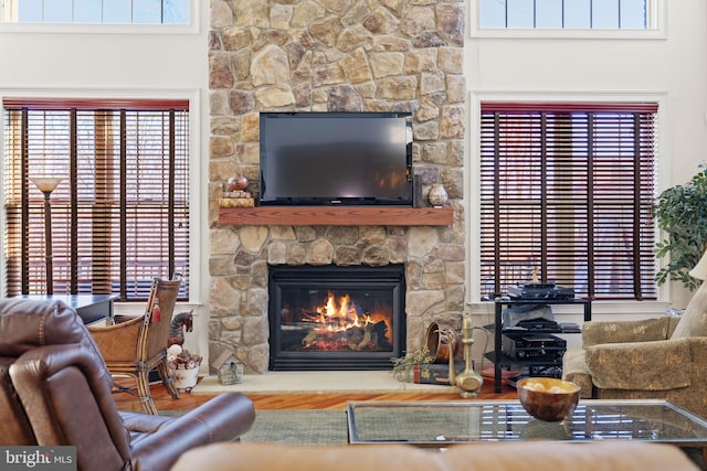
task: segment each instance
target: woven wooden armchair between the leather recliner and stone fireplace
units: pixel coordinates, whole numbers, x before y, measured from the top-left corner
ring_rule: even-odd
[[[167,392],[175,399],[179,398],[169,375],[167,339],[180,285],[181,279],[155,278],[143,315],[114,325],[88,327],[110,374],[135,379],[138,397],[148,414],[157,414],[150,394],[150,371],[157,368]],[[126,389],[117,385],[115,388]]]

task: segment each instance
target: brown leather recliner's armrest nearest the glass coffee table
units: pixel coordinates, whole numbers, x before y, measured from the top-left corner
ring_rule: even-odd
[[[247,396],[220,394],[135,443],[134,469],[170,469],[186,450],[236,440],[251,429],[254,420],[255,407]]]

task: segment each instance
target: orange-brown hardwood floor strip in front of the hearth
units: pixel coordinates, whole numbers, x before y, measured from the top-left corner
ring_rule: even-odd
[[[441,388],[444,389],[444,388]],[[179,399],[172,399],[161,384],[156,383],[150,387],[152,398],[158,410],[191,410],[213,396],[191,395],[181,393]],[[421,393],[389,393],[389,394],[249,394],[255,404],[256,410],[273,409],[342,409],[348,400],[466,400],[458,393],[441,392],[439,394]],[[502,393],[494,393],[493,382],[484,382],[477,399],[515,399],[516,389],[504,384]],[[114,395],[116,405],[120,410],[141,411],[139,399],[127,393]]]

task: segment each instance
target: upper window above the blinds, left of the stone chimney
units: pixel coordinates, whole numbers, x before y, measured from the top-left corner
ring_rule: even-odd
[[[189,24],[191,0],[0,0],[7,23]]]

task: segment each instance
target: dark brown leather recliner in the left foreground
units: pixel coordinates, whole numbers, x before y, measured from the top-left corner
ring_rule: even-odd
[[[191,448],[236,440],[253,403],[222,394],[182,417],[120,413],[76,312],[0,299],[0,445],[75,446],[78,470],[169,470]]]

